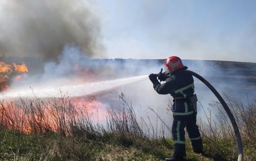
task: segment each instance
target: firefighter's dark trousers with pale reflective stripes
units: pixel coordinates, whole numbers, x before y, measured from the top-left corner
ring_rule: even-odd
[[[174,156],[186,156],[185,127],[194,152],[202,152],[202,138],[196,124],[195,116],[193,114],[185,116],[173,115],[172,133],[174,141]]]

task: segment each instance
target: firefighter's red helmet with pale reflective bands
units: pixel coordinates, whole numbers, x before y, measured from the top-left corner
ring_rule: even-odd
[[[169,57],[165,60],[165,71],[173,71],[182,67],[184,65],[179,57]]]

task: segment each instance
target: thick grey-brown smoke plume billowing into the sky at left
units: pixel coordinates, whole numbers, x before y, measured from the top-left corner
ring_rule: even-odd
[[[100,55],[100,24],[83,0],[8,0],[0,4],[0,56],[58,60],[66,44]]]

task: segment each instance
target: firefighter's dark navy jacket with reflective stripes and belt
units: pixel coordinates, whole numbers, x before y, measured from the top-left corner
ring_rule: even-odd
[[[174,99],[189,98],[194,94],[193,76],[186,71],[187,67],[179,68],[170,73],[165,83],[154,82],[153,87],[158,94],[171,94]],[[195,107],[196,108],[196,107]],[[190,115],[194,113],[194,106],[189,102],[174,102],[171,109],[173,115]],[[197,109],[195,109],[195,112]]]

